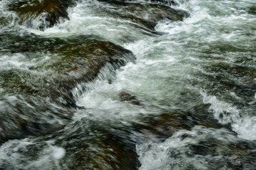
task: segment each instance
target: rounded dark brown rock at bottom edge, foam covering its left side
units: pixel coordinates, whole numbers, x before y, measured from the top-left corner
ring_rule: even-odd
[[[22,163],[25,169],[137,169],[136,146],[125,128],[82,118],[49,136],[7,142],[0,148],[7,154],[0,157],[0,167],[19,169]]]

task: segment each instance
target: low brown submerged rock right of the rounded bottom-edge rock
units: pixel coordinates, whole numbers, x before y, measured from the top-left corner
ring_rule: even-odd
[[[195,114],[196,113],[196,114]],[[155,142],[166,140],[179,130],[191,130],[194,126],[204,126],[205,128],[227,128],[232,130],[230,124],[222,125],[218,120],[212,118],[209,112],[209,105],[195,105],[187,112],[183,110],[173,110],[162,114],[139,118],[139,123],[133,124],[134,134],[139,133],[137,140]],[[130,127],[130,128],[131,128]],[[137,142],[138,142],[137,141]]]

